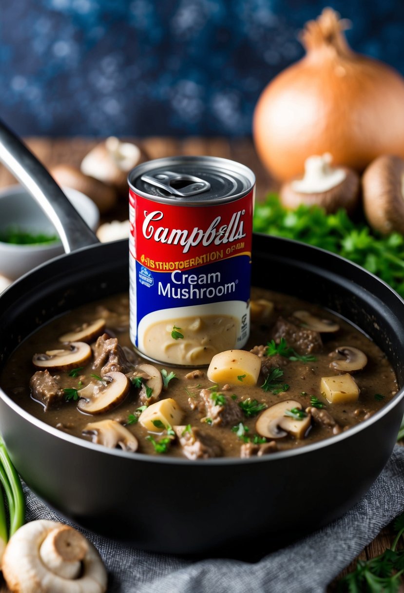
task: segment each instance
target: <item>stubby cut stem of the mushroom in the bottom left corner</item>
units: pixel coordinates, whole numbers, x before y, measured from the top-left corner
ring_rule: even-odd
[[[56,527],[43,540],[39,555],[47,568],[64,579],[76,579],[81,570],[88,543],[85,537],[68,525]]]

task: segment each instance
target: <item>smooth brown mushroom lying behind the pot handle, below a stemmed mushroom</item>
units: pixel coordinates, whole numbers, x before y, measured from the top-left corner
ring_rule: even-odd
[[[50,169],[50,174],[60,186],[73,187],[91,198],[101,214],[108,212],[116,204],[117,194],[113,187],[85,175],[72,165],[56,165]]]

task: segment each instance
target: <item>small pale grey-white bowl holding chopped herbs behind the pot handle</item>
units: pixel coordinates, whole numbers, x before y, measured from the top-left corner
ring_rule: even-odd
[[[100,221],[100,212],[95,203],[75,189],[64,187],[63,191],[84,221],[95,231]],[[32,233],[57,235],[52,222],[21,186],[10,186],[0,190],[0,231],[9,227],[18,227]],[[15,280],[62,253],[60,241],[43,245],[15,245],[0,241],[0,274]]]

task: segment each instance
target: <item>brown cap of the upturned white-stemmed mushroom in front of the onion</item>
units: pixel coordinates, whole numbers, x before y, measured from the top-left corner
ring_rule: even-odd
[[[293,182],[302,179],[302,176],[287,181],[281,186],[279,192],[281,204],[291,210],[295,210],[300,204],[321,206],[329,214],[336,212],[339,208],[345,208],[348,214],[352,214],[359,202],[360,179],[352,169],[342,166],[338,168],[345,171],[345,179],[323,192],[303,193],[293,189]]]

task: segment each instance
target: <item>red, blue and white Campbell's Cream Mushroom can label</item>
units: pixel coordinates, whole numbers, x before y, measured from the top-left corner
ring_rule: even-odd
[[[177,206],[130,190],[131,338],[148,358],[203,365],[245,344],[253,198]]]

